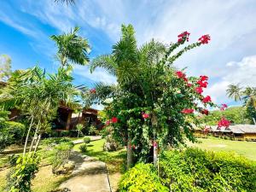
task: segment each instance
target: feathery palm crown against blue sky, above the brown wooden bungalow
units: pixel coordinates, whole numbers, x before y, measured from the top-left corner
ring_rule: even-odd
[[[79,37],[77,33],[79,27],[76,26],[71,32],[62,35],[53,35],[50,38],[55,41],[58,47],[57,59],[61,61],[61,66],[67,66],[71,63],[85,65],[90,59],[90,45],[88,40]]]

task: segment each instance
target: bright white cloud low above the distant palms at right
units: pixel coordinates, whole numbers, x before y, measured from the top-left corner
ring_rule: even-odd
[[[231,63],[231,65],[230,65]],[[231,61],[223,67],[223,77],[210,85],[205,94],[217,103],[231,102],[226,96],[229,84],[256,86],[256,55],[244,57],[241,61]]]

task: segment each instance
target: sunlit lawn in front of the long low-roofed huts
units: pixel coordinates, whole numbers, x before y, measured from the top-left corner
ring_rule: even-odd
[[[256,142],[231,141],[217,137],[199,138],[198,140],[201,143],[188,143],[188,145],[212,151],[233,151],[250,160],[256,160]]]

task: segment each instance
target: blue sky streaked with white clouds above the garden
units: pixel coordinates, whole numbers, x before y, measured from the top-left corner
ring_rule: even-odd
[[[38,65],[54,73],[56,47],[53,34],[70,32],[90,42],[90,59],[111,53],[120,38],[121,24],[132,24],[137,43],[154,38],[164,44],[177,41],[177,34],[190,32],[191,42],[210,34],[210,44],[185,53],[174,65],[188,67],[191,76],[209,76],[204,95],[218,104],[238,105],[226,96],[229,84],[256,86],[255,0],[0,0],[0,55],[12,58],[13,69]],[[90,73],[74,66],[75,84],[93,87],[97,81],[114,83],[103,69]]]

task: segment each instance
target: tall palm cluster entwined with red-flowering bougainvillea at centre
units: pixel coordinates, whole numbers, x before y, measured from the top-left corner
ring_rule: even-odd
[[[196,81],[202,83],[206,78],[187,79],[185,74],[179,72],[182,76],[177,79],[172,63],[189,49],[207,44],[210,38],[203,36],[199,42],[189,44],[173,54],[173,50],[189,38],[188,32],[183,32],[177,43],[168,47],[152,40],[137,48],[133,27],[122,26],[121,31],[121,39],[113,45],[112,54],[97,57],[90,68],[93,71],[96,67],[103,67],[117,77],[118,85],[115,89],[112,87],[115,92],[109,91],[108,96],[113,97],[113,102],[106,110],[109,116],[113,116],[113,134],[121,139],[126,138],[127,166],[131,166],[131,151],[141,158],[143,154],[148,154],[150,143],[154,146],[156,164],[158,143],[165,148],[183,142],[181,126],[186,136],[193,140],[189,131],[192,128],[187,122],[189,118],[182,115],[181,111],[183,108],[200,111],[201,108],[196,107],[194,101],[204,99],[201,94],[194,92],[194,88]],[[189,80],[195,84],[188,86]],[[203,84],[207,85],[206,82]],[[109,88],[106,90],[111,90]],[[101,97],[102,92],[96,87],[96,94],[93,95],[99,94]],[[135,144],[137,147],[133,148]]]

